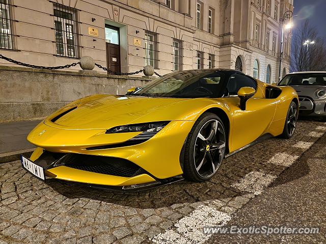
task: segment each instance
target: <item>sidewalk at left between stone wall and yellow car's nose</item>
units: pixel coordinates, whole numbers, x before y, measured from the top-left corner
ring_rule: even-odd
[[[35,148],[26,140],[40,120],[0,123],[0,163],[18,160],[20,154],[30,156]]]

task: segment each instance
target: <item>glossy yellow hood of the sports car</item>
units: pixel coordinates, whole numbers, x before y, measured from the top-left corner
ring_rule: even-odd
[[[186,98],[95,95],[77,100],[45,119],[61,129],[108,129],[151,121],[182,120]]]

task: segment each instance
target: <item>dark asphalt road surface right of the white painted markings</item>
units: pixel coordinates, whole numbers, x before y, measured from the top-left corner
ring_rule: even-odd
[[[319,227],[318,234],[216,234],[208,243],[326,243],[326,136],[307,150],[226,226]]]

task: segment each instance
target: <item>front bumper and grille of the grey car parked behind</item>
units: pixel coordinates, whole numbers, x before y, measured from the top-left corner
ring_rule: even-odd
[[[300,96],[299,115],[309,117],[326,116],[326,99],[312,99]]]

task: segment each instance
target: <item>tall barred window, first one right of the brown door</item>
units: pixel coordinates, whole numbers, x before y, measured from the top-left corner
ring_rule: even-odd
[[[145,31],[145,65],[158,69],[157,33]]]

